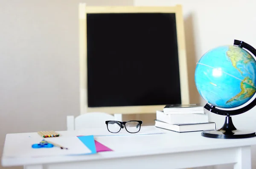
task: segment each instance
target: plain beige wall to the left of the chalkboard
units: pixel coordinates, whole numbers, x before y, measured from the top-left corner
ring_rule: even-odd
[[[0,157],[6,133],[66,130],[66,116],[79,115],[79,2],[133,5],[0,1]]]

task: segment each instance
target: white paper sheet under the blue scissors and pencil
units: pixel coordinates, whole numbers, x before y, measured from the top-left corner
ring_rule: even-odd
[[[81,155],[91,153],[77,137],[56,137],[45,138],[45,140],[52,141],[68,149],[61,149],[57,146],[52,148],[32,148],[32,144],[39,144],[42,138],[20,138],[16,140],[15,144],[6,146],[3,156],[5,157],[41,157],[41,156],[55,156],[55,155]]]

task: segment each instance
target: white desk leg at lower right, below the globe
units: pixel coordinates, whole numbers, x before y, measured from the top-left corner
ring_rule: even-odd
[[[251,147],[243,146],[238,149],[237,163],[234,169],[251,169]]]

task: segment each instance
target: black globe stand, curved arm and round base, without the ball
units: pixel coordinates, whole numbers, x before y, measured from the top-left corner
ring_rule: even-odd
[[[249,44],[234,40],[234,45],[238,45],[240,48],[245,48],[248,51],[250,51],[254,56],[256,56],[256,49],[250,46]],[[248,105],[245,107],[242,107],[237,110],[221,110],[216,108],[213,105],[209,105],[208,103],[204,106],[204,108],[212,113],[218,114],[218,115],[226,115],[225,123],[219,130],[205,130],[201,132],[201,135],[203,137],[208,138],[251,138],[255,137],[256,133],[254,131],[250,130],[237,130],[232,122],[231,115],[238,115],[241,113],[244,113],[251,108],[253,108],[256,105],[256,99],[251,101]]]

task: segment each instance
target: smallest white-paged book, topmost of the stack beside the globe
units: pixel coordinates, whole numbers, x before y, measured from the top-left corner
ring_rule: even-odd
[[[163,108],[165,114],[204,114],[204,107],[200,104],[168,104]]]

